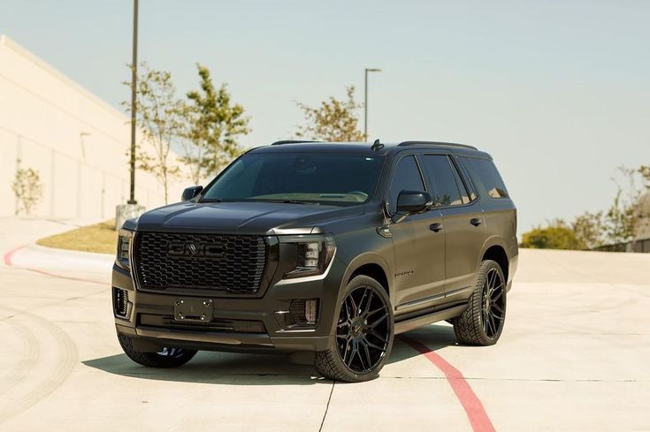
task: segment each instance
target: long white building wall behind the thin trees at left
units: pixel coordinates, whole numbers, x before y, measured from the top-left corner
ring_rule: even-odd
[[[35,216],[115,215],[129,198],[129,118],[27,49],[0,35],[0,216],[15,214],[16,171],[34,168],[43,185]],[[178,201],[182,180],[172,183]],[[136,171],[136,200],[164,204],[151,174]]]

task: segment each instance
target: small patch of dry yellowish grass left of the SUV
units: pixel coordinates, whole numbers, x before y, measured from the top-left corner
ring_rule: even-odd
[[[46,237],[38,240],[36,244],[71,251],[115,254],[118,247],[118,231],[115,231],[115,219],[111,219]]]

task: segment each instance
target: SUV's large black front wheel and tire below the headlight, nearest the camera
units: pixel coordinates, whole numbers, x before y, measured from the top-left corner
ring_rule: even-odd
[[[314,367],[333,381],[360,383],[379,375],[394,340],[393,307],[375,279],[357,276],[346,287],[330,343],[316,352]]]

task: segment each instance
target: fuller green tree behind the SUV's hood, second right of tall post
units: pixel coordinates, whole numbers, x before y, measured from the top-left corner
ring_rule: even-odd
[[[190,167],[192,180],[199,184],[221,171],[227,163],[241,154],[237,142],[241,135],[250,132],[249,117],[239,103],[232,103],[226,84],[214,87],[210,70],[196,64],[201,79],[201,89],[187,93],[191,102],[187,106],[188,118],[185,155],[181,160]]]

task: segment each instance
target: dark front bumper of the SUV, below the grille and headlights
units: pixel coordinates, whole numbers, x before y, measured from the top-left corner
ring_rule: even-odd
[[[138,291],[129,272],[116,264],[112,286],[124,290],[128,301],[126,316],[115,315],[116,330],[133,338],[140,351],[156,352],[163,346],[230,352],[324,351],[331,344],[344,272],[344,264],[334,257],[325,275],[281,280],[261,298],[210,297]],[[212,300],[210,322],[174,321],[174,303],[188,298]],[[316,325],[287,325],[285,316],[294,299],[319,300]]]

